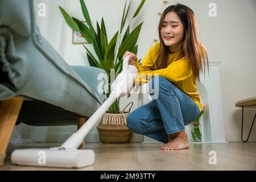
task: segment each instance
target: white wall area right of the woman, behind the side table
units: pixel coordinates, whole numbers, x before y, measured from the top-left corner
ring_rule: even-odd
[[[186,1],[187,2],[187,1]],[[201,40],[210,60],[221,60],[222,109],[227,141],[241,141],[241,109],[234,104],[256,96],[256,1],[189,1],[195,10]],[[204,3],[203,3],[204,2]],[[217,5],[217,17],[207,16],[210,2]],[[249,133],[255,109],[246,109],[244,137]],[[256,140],[256,130],[250,140]]]

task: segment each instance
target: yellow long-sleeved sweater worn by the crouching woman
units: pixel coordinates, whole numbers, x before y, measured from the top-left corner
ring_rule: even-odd
[[[163,76],[174,83],[177,88],[182,90],[185,94],[187,94],[197,106],[199,106],[200,111],[202,110],[202,105],[200,102],[200,95],[197,92],[196,82],[193,81],[193,72],[191,64],[189,63],[187,57],[182,57],[177,60],[181,53],[180,51],[169,54],[167,60],[167,67],[163,69],[157,69],[154,67],[154,63],[158,56],[158,52],[160,49],[160,43],[154,44],[147,52],[146,56],[144,56],[142,60],[142,65],[139,65],[139,61],[136,60],[135,66],[138,69],[138,77],[137,84],[144,84],[148,82],[147,74],[151,73],[152,77],[154,74],[158,74],[158,76]]]

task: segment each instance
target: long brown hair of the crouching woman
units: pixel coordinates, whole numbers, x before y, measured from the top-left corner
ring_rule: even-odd
[[[193,78],[196,80],[196,78],[200,81],[199,74],[202,72],[202,61],[204,63],[204,73],[205,73],[205,65],[207,65],[208,73],[209,73],[209,62],[208,62],[208,55],[207,51],[204,47],[204,45],[199,41],[197,37],[197,24],[196,24],[196,18],[193,11],[185,6],[177,3],[177,5],[171,5],[168,6],[159,22],[158,26],[158,34],[160,39],[160,51],[158,54],[158,57],[156,59],[156,67],[158,69],[166,68],[168,54],[169,54],[169,47],[166,46],[163,42],[162,36],[161,36],[161,28],[163,26],[163,20],[164,16],[167,13],[170,12],[176,13],[181,23],[184,27],[184,38],[183,38],[183,47],[181,51],[181,56],[179,59],[183,56],[186,56],[187,59],[192,64],[192,71],[193,71]]]

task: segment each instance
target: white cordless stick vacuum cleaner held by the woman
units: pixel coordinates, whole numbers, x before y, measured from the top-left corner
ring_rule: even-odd
[[[92,165],[95,158],[94,151],[77,150],[77,148],[113,102],[117,98],[125,96],[133,89],[134,78],[137,77],[138,70],[134,65],[129,65],[129,59],[130,56],[126,56],[123,60],[122,72],[119,73],[118,77],[111,85],[112,92],[109,98],[98,108],[88,121],[60,147],[18,149],[11,154],[11,162],[22,166],[66,168],[80,168]]]

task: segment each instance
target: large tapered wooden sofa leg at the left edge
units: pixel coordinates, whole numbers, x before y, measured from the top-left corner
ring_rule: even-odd
[[[22,106],[22,97],[13,97],[1,102],[0,106],[0,166],[3,166],[6,150]]]

